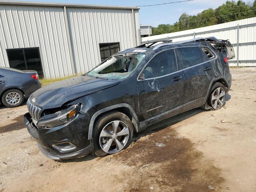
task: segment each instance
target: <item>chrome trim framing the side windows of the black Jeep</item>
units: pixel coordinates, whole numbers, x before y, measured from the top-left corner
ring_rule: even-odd
[[[186,46],[186,47],[206,47],[206,48],[209,48],[208,46]],[[176,47],[176,48],[184,48],[184,47]],[[170,48],[170,49],[176,49],[176,48]],[[166,50],[170,50],[170,49],[166,49]],[[210,48],[209,48],[209,49],[210,49]],[[210,50],[212,51],[212,49],[210,49]],[[162,50],[162,51],[160,51],[160,52],[163,52],[163,51],[165,51],[165,50]],[[158,53],[160,53],[160,52],[158,52]],[[174,52],[175,52],[175,56],[176,56],[176,51],[174,50]],[[157,53],[157,54],[158,54],[158,53]],[[154,56],[156,56],[157,54],[155,54]],[[154,56],[153,56],[152,58],[154,58]],[[205,61],[205,62],[202,62],[202,63],[196,64],[196,65],[193,65],[193,66],[190,66],[190,67],[187,67],[187,68],[181,69],[181,70],[178,70],[178,71],[176,71],[176,72],[172,72],[172,73],[169,73],[169,74],[166,74],[166,75],[163,75],[163,76],[159,76],[159,77],[147,78],[147,79],[144,79],[144,80],[151,80],[151,79],[162,78],[162,77],[165,77],[165,76],[168,76],[168,75],[172,75],[172,74],[175,74],[175,73],[181,72],[181,71],[183,71],[183,70],[190,69],[190,68],[192,68],[192,67],[196,67],[196,66],[199,66],[199,65],[205,64],[205,63],[207,63],[207,62],[211,62],[211,61],[213,61],[213,60],[216,60],[216,59],[217,59],[217,57],[216,57],[216,54],[215,54],[215,53],[214,53],[214,56],[215,56],[214,58],[212,58],[212,59],[210,59],[210,60],[208,60],[208,61]],[[152,59],[152,58],[151,58],[151,59]],[[151,61],[151,59],[148,61],[148,63]],[[177,56],[176,56],[176,62],[177,62]],[[148,65],[148,63],[144,66],[144,68]],[[140,74],[138,75],[138,77],[137,77],[137,81],[144,81],[144,80],[139,79],[139,77],[140,77],[140,75],[142,74],[142,72],[143,72],[144,68],[142,68],[142,70],[141,70]],[[178,62],[177,62],[177,69],[178,69]]]

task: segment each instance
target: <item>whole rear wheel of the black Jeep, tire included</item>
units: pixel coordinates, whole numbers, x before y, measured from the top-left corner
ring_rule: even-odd
[[[221,83],[216,83],[212,87],[212,92],[210,94],[208,104],[214,109],[218,110],[222,108],[226,98],[226,88]]]

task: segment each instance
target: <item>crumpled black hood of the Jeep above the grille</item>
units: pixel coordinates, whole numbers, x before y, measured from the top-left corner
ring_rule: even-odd
[[[118,83],[119,81],[78,76],[42,87],[36,90],[29,100],[43,110],[56,108],[68,101],[115,86]]]

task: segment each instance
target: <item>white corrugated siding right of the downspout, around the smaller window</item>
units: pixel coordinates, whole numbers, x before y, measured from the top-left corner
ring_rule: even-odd
[[[133,42],[132,10],[67,8],[77,73],[85,73],[101,62],[100,43],[120,42],[120,50]]]

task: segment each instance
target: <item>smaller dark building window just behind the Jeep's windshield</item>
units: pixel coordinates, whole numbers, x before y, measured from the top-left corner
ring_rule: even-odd
[[[100,43],[101,61],[120,51],[119,43]]]

